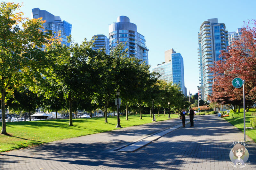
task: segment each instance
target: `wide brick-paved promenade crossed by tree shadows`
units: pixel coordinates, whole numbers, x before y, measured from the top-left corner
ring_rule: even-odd
[[[135,152],[117,152],[180,123],[176,118],[4,152],[0,169],[242,169],[231,165],[229,146],[243,141],[243,133],[214,115],[200,116],[193,128],[187,124],[187,128],[171,131]],[[246,139],[250,163],[243,169],[256,169],[256,145]]]

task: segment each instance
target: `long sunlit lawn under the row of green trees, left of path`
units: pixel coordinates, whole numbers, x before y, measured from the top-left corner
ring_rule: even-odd
[[[160,117],[155,114],[155,116],[156,121],[168,119],[168,114],[165,116],[160,115]],[[175,117],[178,117],[178,115],[171,115],[171,118]],[[125,116],[120,116],[120,120],[122,127],[152,122],[150,115],[142,115],[142,120],[140,120],[140,115],[129,115],[128,121]],[[111,131],[117,129],[116,124],[116,117],[108,117],[108,123],[105,123],[104,117],[73,119],[74,126],[69,126],[69,119],[6,122],[6,131],[10,136],[0,135],[0,152],[60,139]],[[0,125],[2,127],[2,122],[0,122]]]

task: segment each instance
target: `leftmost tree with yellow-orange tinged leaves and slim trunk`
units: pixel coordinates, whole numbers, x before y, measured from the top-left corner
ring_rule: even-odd
[[[20,4],[0,3],[0,90],[2,106],[2,134],[7,134],[5,124],[5,102],[8,96],[23,81],[36,78],[41,68],[47,65],[44,51],[36,48],[47,43],[49,34],[42,32],[43,21],[22,18]],[[17,11],[17,12],[15,12]],[[22,25],[20,28],[19,25]]]

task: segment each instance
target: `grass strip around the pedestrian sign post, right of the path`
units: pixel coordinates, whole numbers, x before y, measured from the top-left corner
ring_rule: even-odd
[[[245,117],[245,127],[252,127],[250,124],[250,118],[254,116],[246,116]],[[236,126],[240,131],[244,132],[244,117],[224,117],[229,123]],[[245,129],[245,134],[256,142],[256,129]]]

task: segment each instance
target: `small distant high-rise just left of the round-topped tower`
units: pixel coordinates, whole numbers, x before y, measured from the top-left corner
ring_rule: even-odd
[[[103,34],[97,34],[97,35],[94,35],[93,37],[96,37],[96,36],[98,38],[93,43],[94,47],[92,47],[92,49],[100,50],[102,48],[105,48],[106,54],[109,55],[109,39],[107,38],[107,36]]]

